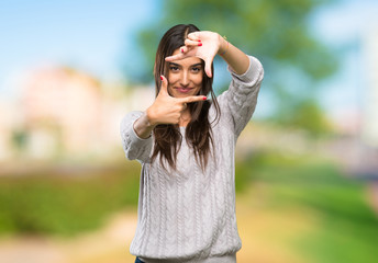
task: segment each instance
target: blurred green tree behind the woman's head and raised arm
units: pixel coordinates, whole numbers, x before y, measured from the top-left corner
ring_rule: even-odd
[[[262,92],[271,102],[269,114],[274,118],[270,119],[288,114],[285,121],[300,122],[296,116],[300,111],[296,107],[313,100],[318,81],[332,76],[337,68],[336,56],[310,30],[311,14],[331,1],[163,0],[158,10],[160,20],[141,28],[136,36],[141,67],[135,70],[134,59],[129,67],[134,70],[129,72],[134,80],[151,81],[155,52],[164,32],[175,24],[193,23],[201,30],[225,35],[235,46],[259,58],[265,68]],[[219,62],[216,59],[215,67]],[[227,82],[224,79],[220,90],[225,89]],[[303,126],[312,127],[304,123]]]

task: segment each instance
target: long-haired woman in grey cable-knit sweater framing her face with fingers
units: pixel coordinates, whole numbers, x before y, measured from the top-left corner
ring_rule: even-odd
[[[232,76],[218,98],[215,55]],[[263,67],[219,34],[190,24],[163,36],[154,75],[155,102],[121,123],[126,157],[142,163],[130,251],[135,262],[236,262],[234,150],[255,110]]]

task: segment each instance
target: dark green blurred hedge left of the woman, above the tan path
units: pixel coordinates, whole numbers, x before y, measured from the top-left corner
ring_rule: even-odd
[[[0,233],[75,235],[136,206],[138,167],[0,178]]]

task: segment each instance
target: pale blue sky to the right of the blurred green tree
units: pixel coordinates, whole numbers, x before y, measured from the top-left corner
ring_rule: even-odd
[[[335,118],[362,114],[367,95],[366,61],[369,56],[364,50],[364,42],[378,32],[378,1],[338,0],[320,8],[313,15],[313,31],[338,52],[341,58],[338,72],[320,84],[321,103]]]

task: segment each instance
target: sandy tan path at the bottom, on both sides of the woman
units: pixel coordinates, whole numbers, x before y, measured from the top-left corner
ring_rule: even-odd
[[[237,263],[303,263],[290,245],[297,235],[311,230],[311,213],[302,209],[271,209],[264,204],[264,185],[237,196],[237,225],[243,248]],[[100,230],[71,239],[13,238],[0,239],[0,263],[127,263],[136,228],[136,211],[124,211],[109,219]],[[273,252],[274,251],[274,252]]]

